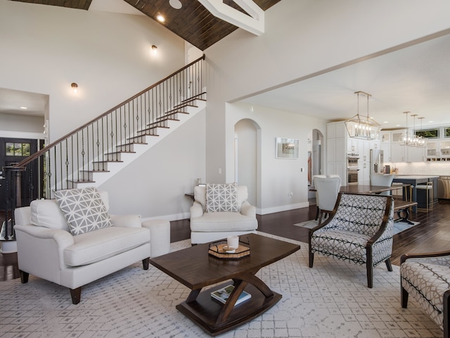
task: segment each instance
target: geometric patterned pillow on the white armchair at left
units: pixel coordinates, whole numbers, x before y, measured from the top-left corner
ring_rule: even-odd
[[[96,187],[58,190],[55,199],[73,235],[113,225]]]

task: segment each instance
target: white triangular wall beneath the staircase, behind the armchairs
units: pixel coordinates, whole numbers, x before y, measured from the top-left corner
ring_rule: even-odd
[[[205,111],[181,125],[131,165],[98,187],[112,213],[146,218],[189,218],[197,178],[205,180]]]

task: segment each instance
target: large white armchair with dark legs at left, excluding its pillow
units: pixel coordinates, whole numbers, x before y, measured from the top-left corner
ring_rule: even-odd
[[[108,194],[101,193],[107,210]],[[15,209],[18,266],[23,283],[29,274],[70,289],[72,303],[82,286],[138,261],[148,269],[150,230],[139,215],[110,215],[112,226],[72,235],[54,199]]]

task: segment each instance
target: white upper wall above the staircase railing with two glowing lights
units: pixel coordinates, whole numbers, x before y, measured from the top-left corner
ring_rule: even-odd
[[[143,15],[2,0],[0,42],[0,87],[49,94],[50,141],[184,66],[184,40]]]

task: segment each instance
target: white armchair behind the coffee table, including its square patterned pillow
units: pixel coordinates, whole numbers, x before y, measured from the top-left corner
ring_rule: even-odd
[[[191,244],[255,233],[258,227],[256,208],[247,199],[245,186],[207,184],[207,187],[195,187],[191,206]]]

